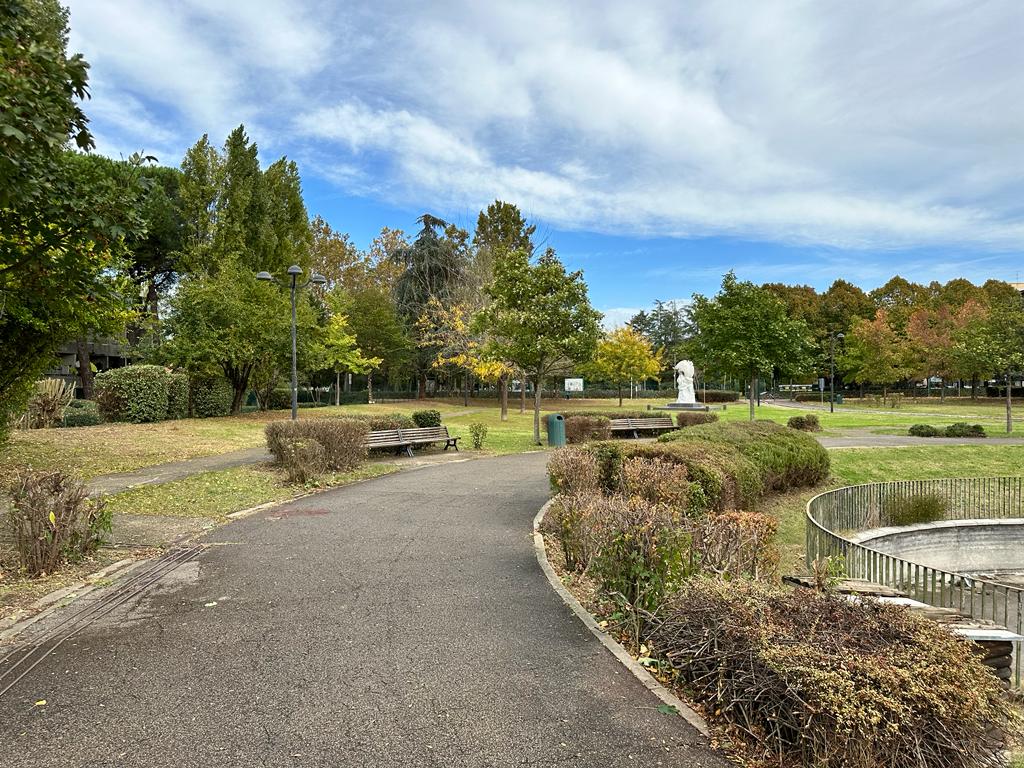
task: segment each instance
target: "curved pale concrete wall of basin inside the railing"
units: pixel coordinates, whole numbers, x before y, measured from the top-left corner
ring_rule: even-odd
[[[953,572],[1024,571],[1024,519],[943,520],[848,537],[869,549]]]

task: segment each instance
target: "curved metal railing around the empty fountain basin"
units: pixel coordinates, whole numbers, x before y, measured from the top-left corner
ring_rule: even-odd
[[[974,477],[898,480],[848,485],[819,494],[807,503],[807,565],[823,557],[842,557],[851,579],[863,579],[904,592],[972,618],[990,621],[1024,634],[1024,590],[873,550],[844,535],[883,527],[900,502],[923,496],[941,498],[944,519],[1024,518],[1024,477]],[[1021,643],[1014,643],[1013,684],[1021,687]]]

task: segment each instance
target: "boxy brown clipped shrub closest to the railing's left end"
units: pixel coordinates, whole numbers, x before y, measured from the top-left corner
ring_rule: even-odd
[[[693,556],[705,573],[766,579],[778,565],[778,520],[762,512],[711,514],[693,525]]]

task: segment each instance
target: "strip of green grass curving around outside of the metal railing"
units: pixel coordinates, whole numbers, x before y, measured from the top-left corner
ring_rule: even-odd
[[[1024,473],[1024,445],[936,445],[930,447],[829,451],[831,477],[817,488],[769,499],[765,511],[778,517],[777,542],[783,573],[804,570],[804,512],[811,497],[829,487],[884,480],[933,477],[992,477]]]

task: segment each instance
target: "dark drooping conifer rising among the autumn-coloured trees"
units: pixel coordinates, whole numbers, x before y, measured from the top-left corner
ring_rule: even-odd
[[[400,268],[393,290],[395,305],[414,337],[416,325],[431,298],[445,306],[458,301],[467,269],[465,239],[459,234],[461,230],[453,230],[446,221],[428,213],[418,221],[422,228],[413,245],[399,248],[391,255],[392,262]],[[422,346],[416,355],[417,396],[420,398],[426,396],[426,374],[433,357],[433,351]]]

